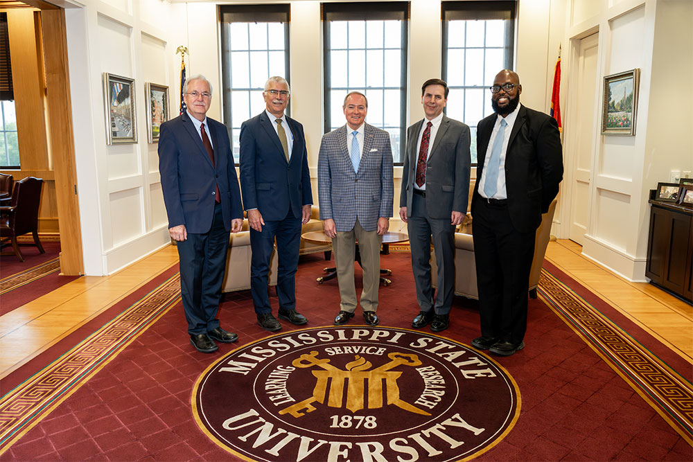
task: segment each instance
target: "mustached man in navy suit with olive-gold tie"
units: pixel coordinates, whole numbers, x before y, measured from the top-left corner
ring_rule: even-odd
[[[289,84],[284,78],[265,82],[266,110],[240,126],[240,188],[250,224],[250,290],[258,324],[281,329],[267,296],[270,258],[277,240],[279,319],[308,322],[296,311],[295,275],[299,263],[301,223],[310,220],[308,152],[303,125],[284,114]]]

